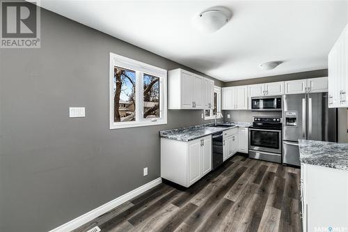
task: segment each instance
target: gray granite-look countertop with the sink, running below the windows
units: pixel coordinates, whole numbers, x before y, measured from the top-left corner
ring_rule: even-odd
[[[209,125],[214,125],[214,123],[195,125],[191,127],[182,127],[172,130],[162,130],[159,132],[160,137],[166,139],[173,139],[179,141],[191,141],[194,139],[199,139],[205,137],[209,134],[214,134],[216,132],[221,132],[223,130],[230,130],[235,127],[249,127],[252,123],[219,123],[219,125],[231,125],[231,127],[209,127]]]

